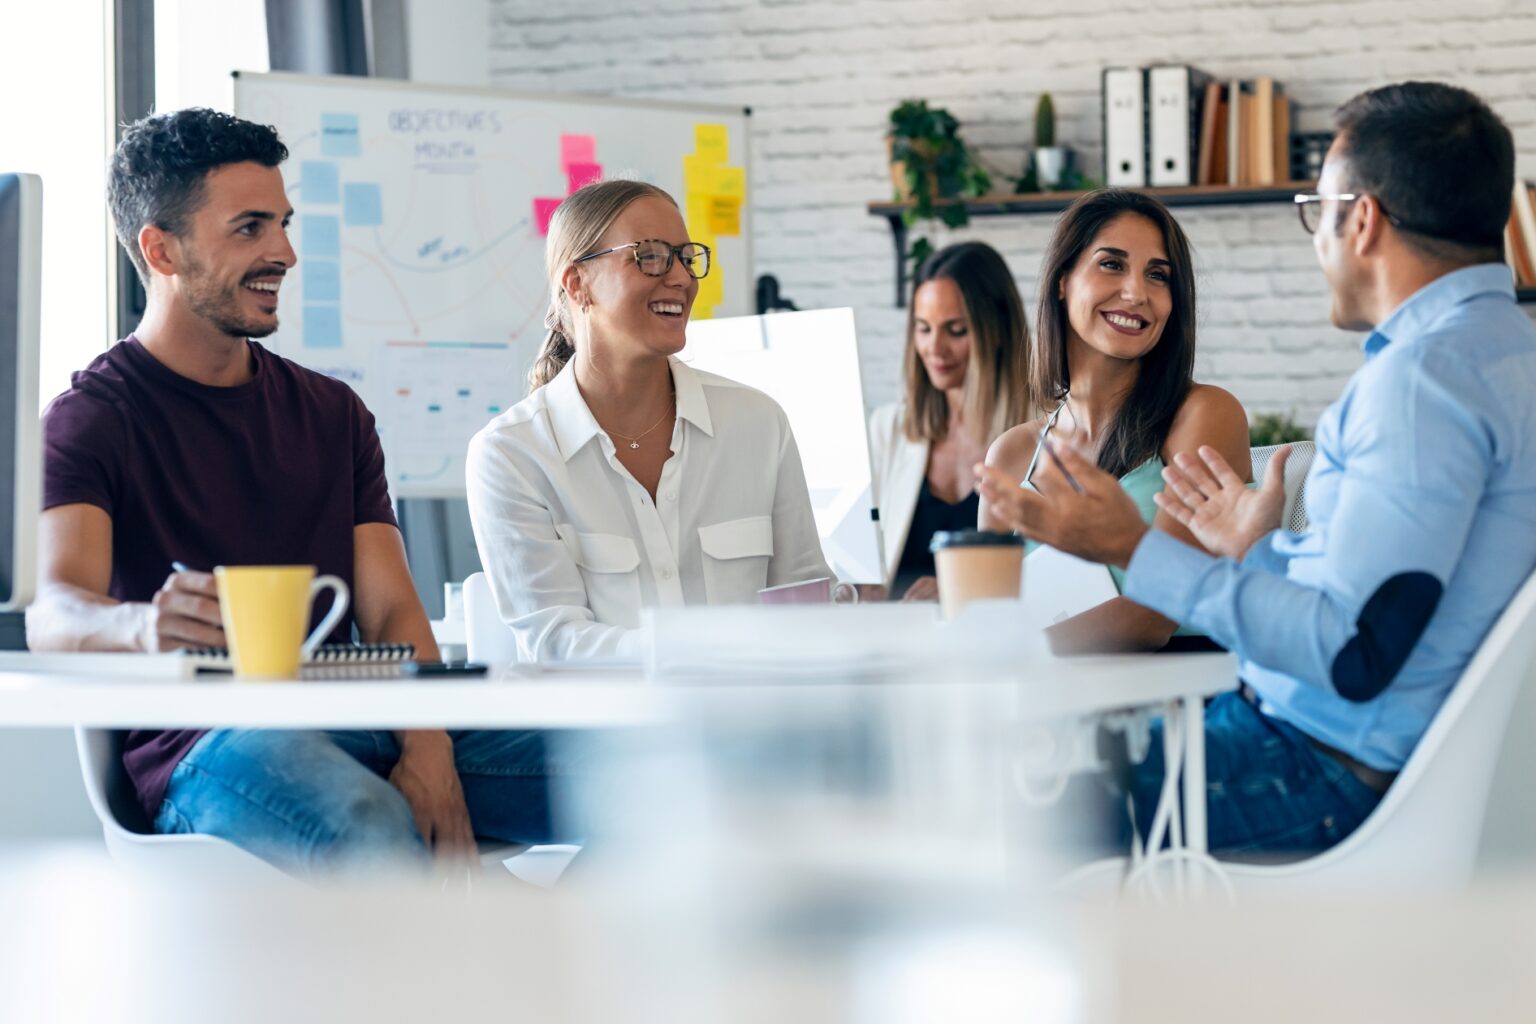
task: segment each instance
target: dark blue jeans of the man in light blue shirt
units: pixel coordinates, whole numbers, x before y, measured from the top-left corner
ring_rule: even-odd
[[[1163,788],[1161,722],[1152,729],[1146,761],[1130,771],[1137,832],[1144,840]],[[1316,854],[1359,827],[1379,800],[1306,734],[1241,695],[1221,694],[1206,706],[1206,820],[1213,855]]]

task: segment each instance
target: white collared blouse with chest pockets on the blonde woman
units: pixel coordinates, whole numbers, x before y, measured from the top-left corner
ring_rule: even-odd
[[[641,608],[754,603],[831,576],[783,410],[671,359],[656,500],[619,462],[571,364],[470,442],[470,520],[527,662],[641,656]]]

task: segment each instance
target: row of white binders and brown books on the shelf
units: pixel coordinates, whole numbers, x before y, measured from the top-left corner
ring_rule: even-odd
[[[1104,181],[1266,186],[1292,180],[1290,100],[1273,78],[1187,64],[1106,68]]]

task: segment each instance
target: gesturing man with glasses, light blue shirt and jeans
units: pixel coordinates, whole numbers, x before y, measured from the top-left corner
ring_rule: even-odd
[[[1364,821],[1536,570],[1536,325],[1502,261],[1510,132],[1433,83],[1362,94],[1338,129],[1298,204],[1333,322],[1370,333],[1318,422],[1309,531],[1276,528],[1283,457],[1258,490],[1210,448],[1164,471],[1160,508],[1215,556],[1147,530],[1063,445],[1081,493],[1055,465],[1041,494],[983,484],[1021,533],[1126,565],[1127,597],[1241,657],[1243,692],[1206,715],[1217,852],[1316,851]],[[1141,766],[1138,818],[1161,772]]]

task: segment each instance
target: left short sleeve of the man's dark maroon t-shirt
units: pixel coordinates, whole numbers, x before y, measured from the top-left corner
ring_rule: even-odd
[[[109,516],[120,493],[121,413],[84,391],[65,391],[43,413],[43,508],[95,505]]]

